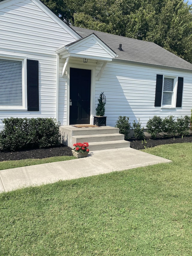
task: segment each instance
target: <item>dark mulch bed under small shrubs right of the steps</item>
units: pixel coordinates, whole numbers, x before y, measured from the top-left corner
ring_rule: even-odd
[[[192,142],[192,135],[189,135],[183,138],[181,136],[171,137],[171,138],[160,137],[155,140],[152,140],[151,138],[145,138],[145,140],[143,139],[143,142],[142,140],[131,138],[131,139],[128,139],[128,141],[130,141],[130,147],[133,149],[145,149],[145,146],[146,148],[151,148],[151,147],[164,145],[164,144]]]

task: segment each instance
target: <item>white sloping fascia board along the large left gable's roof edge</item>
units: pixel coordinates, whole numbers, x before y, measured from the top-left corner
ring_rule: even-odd
[[[41,8],[42,11],[44,11],[50,18],[52,18],[58,25],[60,25],[63,29],[65,29],[73,38],[76,40],[80,39],[81,36],[76,33],[73,29],[71,29],[64,21],[62,21],[57,15],[55,15],[46,5],[44,5],[40,0],[31,0],[36,5],[38,5],[39,8]]]

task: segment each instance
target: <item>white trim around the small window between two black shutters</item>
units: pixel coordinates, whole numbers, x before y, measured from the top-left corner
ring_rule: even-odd
[[[170,105],[163,105],[164,79],[165,79],[165,78],[171,78],[171,79],[173,79],[172,104],[170,104]],[[162,96],[161,96],[161,108],[176,108],[177,83],[178,83],[178,76],[167,76],[167,75],[163,75]]]

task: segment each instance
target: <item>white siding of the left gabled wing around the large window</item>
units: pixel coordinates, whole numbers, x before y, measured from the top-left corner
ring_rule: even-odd
[[[13,3],[0,10],[0,58],[4,55],[12,55],[39,61],[39,111],[0,110],[0,119],[11,116],[55,117],[55,50],[76,41],[77,38],[67,32],[69,30],[67,25],[61,26],[60,20],[55,21],[56,16],[52,19],[52,16],[44,12],[35,2],[24,0]],[[0,121],[0,129],[2,127]]]

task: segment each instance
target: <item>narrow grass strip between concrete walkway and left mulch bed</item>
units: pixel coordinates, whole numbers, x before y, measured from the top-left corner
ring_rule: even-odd
[[[2,161],[0,162],[0,170],[6,170],[11,168],[36,165],[36,164],[46,164],[46,163],[52,163],[52,162],[66,161],[71,159],[75,159],[75,157],[74,156],[56,156],[56,157],[48,157],[43,159]]]

